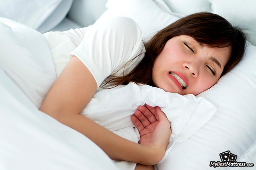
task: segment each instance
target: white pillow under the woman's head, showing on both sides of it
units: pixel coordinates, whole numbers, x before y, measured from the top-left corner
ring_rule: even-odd
[[[168,9],[160,10],[166,8],[165,4],[159,5],[161,2],[163,0],[109,0],[108,9],[99,20],[130,17],[142,27],[142,35],[148,39],[153,35],[152,30],[160,30],[177,20],[177,15],[171,15],[171,9],[169,13]],[[256,160],[256,155],[251,154],[256,152],[255,64],[256,47],[247,44],[244,60],[215,86],[198,95],[212,102],[218,108],[217,113],[186,141],[176,143],[167,158],[157,165],[159,170],[212,168],[210,161],[221,161],[219,153],[226,150],[238,156],[236,161]]]

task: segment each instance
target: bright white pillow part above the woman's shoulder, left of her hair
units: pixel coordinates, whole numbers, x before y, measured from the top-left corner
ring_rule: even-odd
[[[178,20],[178,17],[163,12],[152,0],[109,0],[107,11],[96,21],[113,17],[132,18],[142,30],[145,41],[163,27]]]

